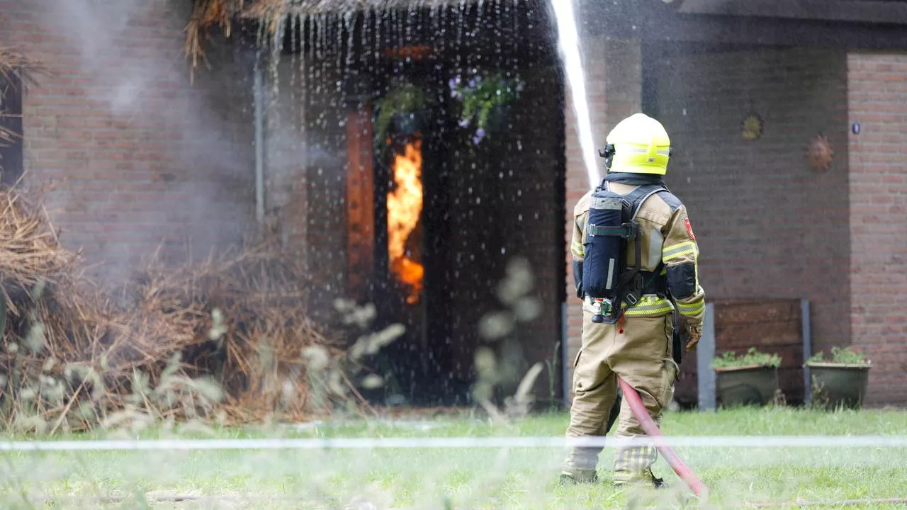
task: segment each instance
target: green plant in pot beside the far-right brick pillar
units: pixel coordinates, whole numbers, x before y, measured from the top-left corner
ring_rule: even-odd
[[[872,361],[853,348],[833,347],[831,351],[831,360],[822,351],[806,360],[814,404],[828,409],[862,407]]]

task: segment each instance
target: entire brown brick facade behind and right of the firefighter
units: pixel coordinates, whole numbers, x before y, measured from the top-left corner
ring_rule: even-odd
[[[665,124],[678,151],[668,186],[688,206],[708,299],[809,299],[814,350],[863,349],[876,365],[869,401],[902,404],[907,178],[899,147],[907,56],[653,44],[640,64],[614,44],[631,47],[584,44],[596,142],[642,105]],[[611,62],[619,72],[607,72]],[[622,96],[614,99],[612,88]],[[764,122],[756,141],[741,136],[749,112]],[[588,180],[569,107],[566,123],[569,240],[570,210]],[[863,126],[860,134],[849,134],[853,123]],[[817,135],[834,150],[826,172],[805,158]],[[566,286],[572,357],[580,307],[571,270]]]

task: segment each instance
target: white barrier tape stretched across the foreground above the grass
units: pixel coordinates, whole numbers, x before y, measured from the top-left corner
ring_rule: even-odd
[[[907,436],[362,437],[325,439],[150,439],[0,442],[0,451],[321,450],[385,448],[564,448],[687,446],[907,448]]]

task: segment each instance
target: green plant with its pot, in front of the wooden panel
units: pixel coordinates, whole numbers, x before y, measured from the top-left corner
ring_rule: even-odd
[[[755,347],[739,356],[725,352],[712,360],[718,401],[724,407],[765,406],[775,397],[780,365],[777,354],[759,352]]]

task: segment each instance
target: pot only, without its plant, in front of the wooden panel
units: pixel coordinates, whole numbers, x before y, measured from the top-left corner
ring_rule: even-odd
[[[765,406],[775,397],[778,370],[774,367],[715,368],[718,405],[722,407]]]

